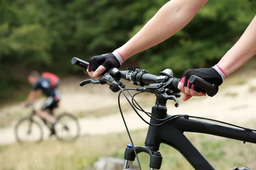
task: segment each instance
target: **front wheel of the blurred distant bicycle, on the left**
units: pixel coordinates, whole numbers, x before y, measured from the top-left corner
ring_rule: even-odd
[[[41,142],[43,140],[43,129],[41,125],[32,118],[23,118],[15,126],[15,137],[18,143],[26,141]]]

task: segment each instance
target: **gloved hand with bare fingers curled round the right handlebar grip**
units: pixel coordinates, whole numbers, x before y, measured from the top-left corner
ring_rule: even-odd
[[[217,65],[209,69],[188,69],[184,72],[179,84],[178,89],[183,92],[183,101],[189,100],[192,96],[205,96],[205,91],[198,86],[189,84],[190,76],[195,75],[199,78],[208,81],[209,83],[215,83],[220,86],[223,80],[226,78],[226,75]]]

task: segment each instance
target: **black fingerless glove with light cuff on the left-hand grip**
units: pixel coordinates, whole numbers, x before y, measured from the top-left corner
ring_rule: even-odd
[[[112,53],[96,55],[89,59],[89,72],[95,71],[100,65],[105,66],[106,72],[112,68],[119,68],[124,62],[122,56],[115,50]]]

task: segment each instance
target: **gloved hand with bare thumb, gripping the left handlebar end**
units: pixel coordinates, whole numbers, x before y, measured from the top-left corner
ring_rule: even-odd
[[[124,62],[122,56],[116,50],[104,55],[96,55],[89,59],[87,73],[94,79],[99,79],[103,72],[108,72],[112,68],[119,68]]]

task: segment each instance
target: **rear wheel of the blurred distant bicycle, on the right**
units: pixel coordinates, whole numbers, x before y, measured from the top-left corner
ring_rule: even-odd
[[[56,138],[65,142],[76,140],[80,134],[77,118],[69,113],[58,115],[54,128]]]

